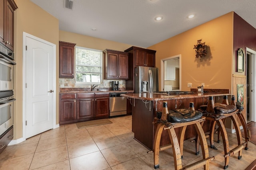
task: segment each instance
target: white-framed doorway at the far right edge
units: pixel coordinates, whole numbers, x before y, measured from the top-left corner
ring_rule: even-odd
[[[246,81],[247,81],[247,104],[246,104],[246,120],[247,124],[251,121],[256,120],[256,107],[254,106],[254,101],[256,99],[255,95],[255,66],[256,66],[256,51],[246,48]]]

